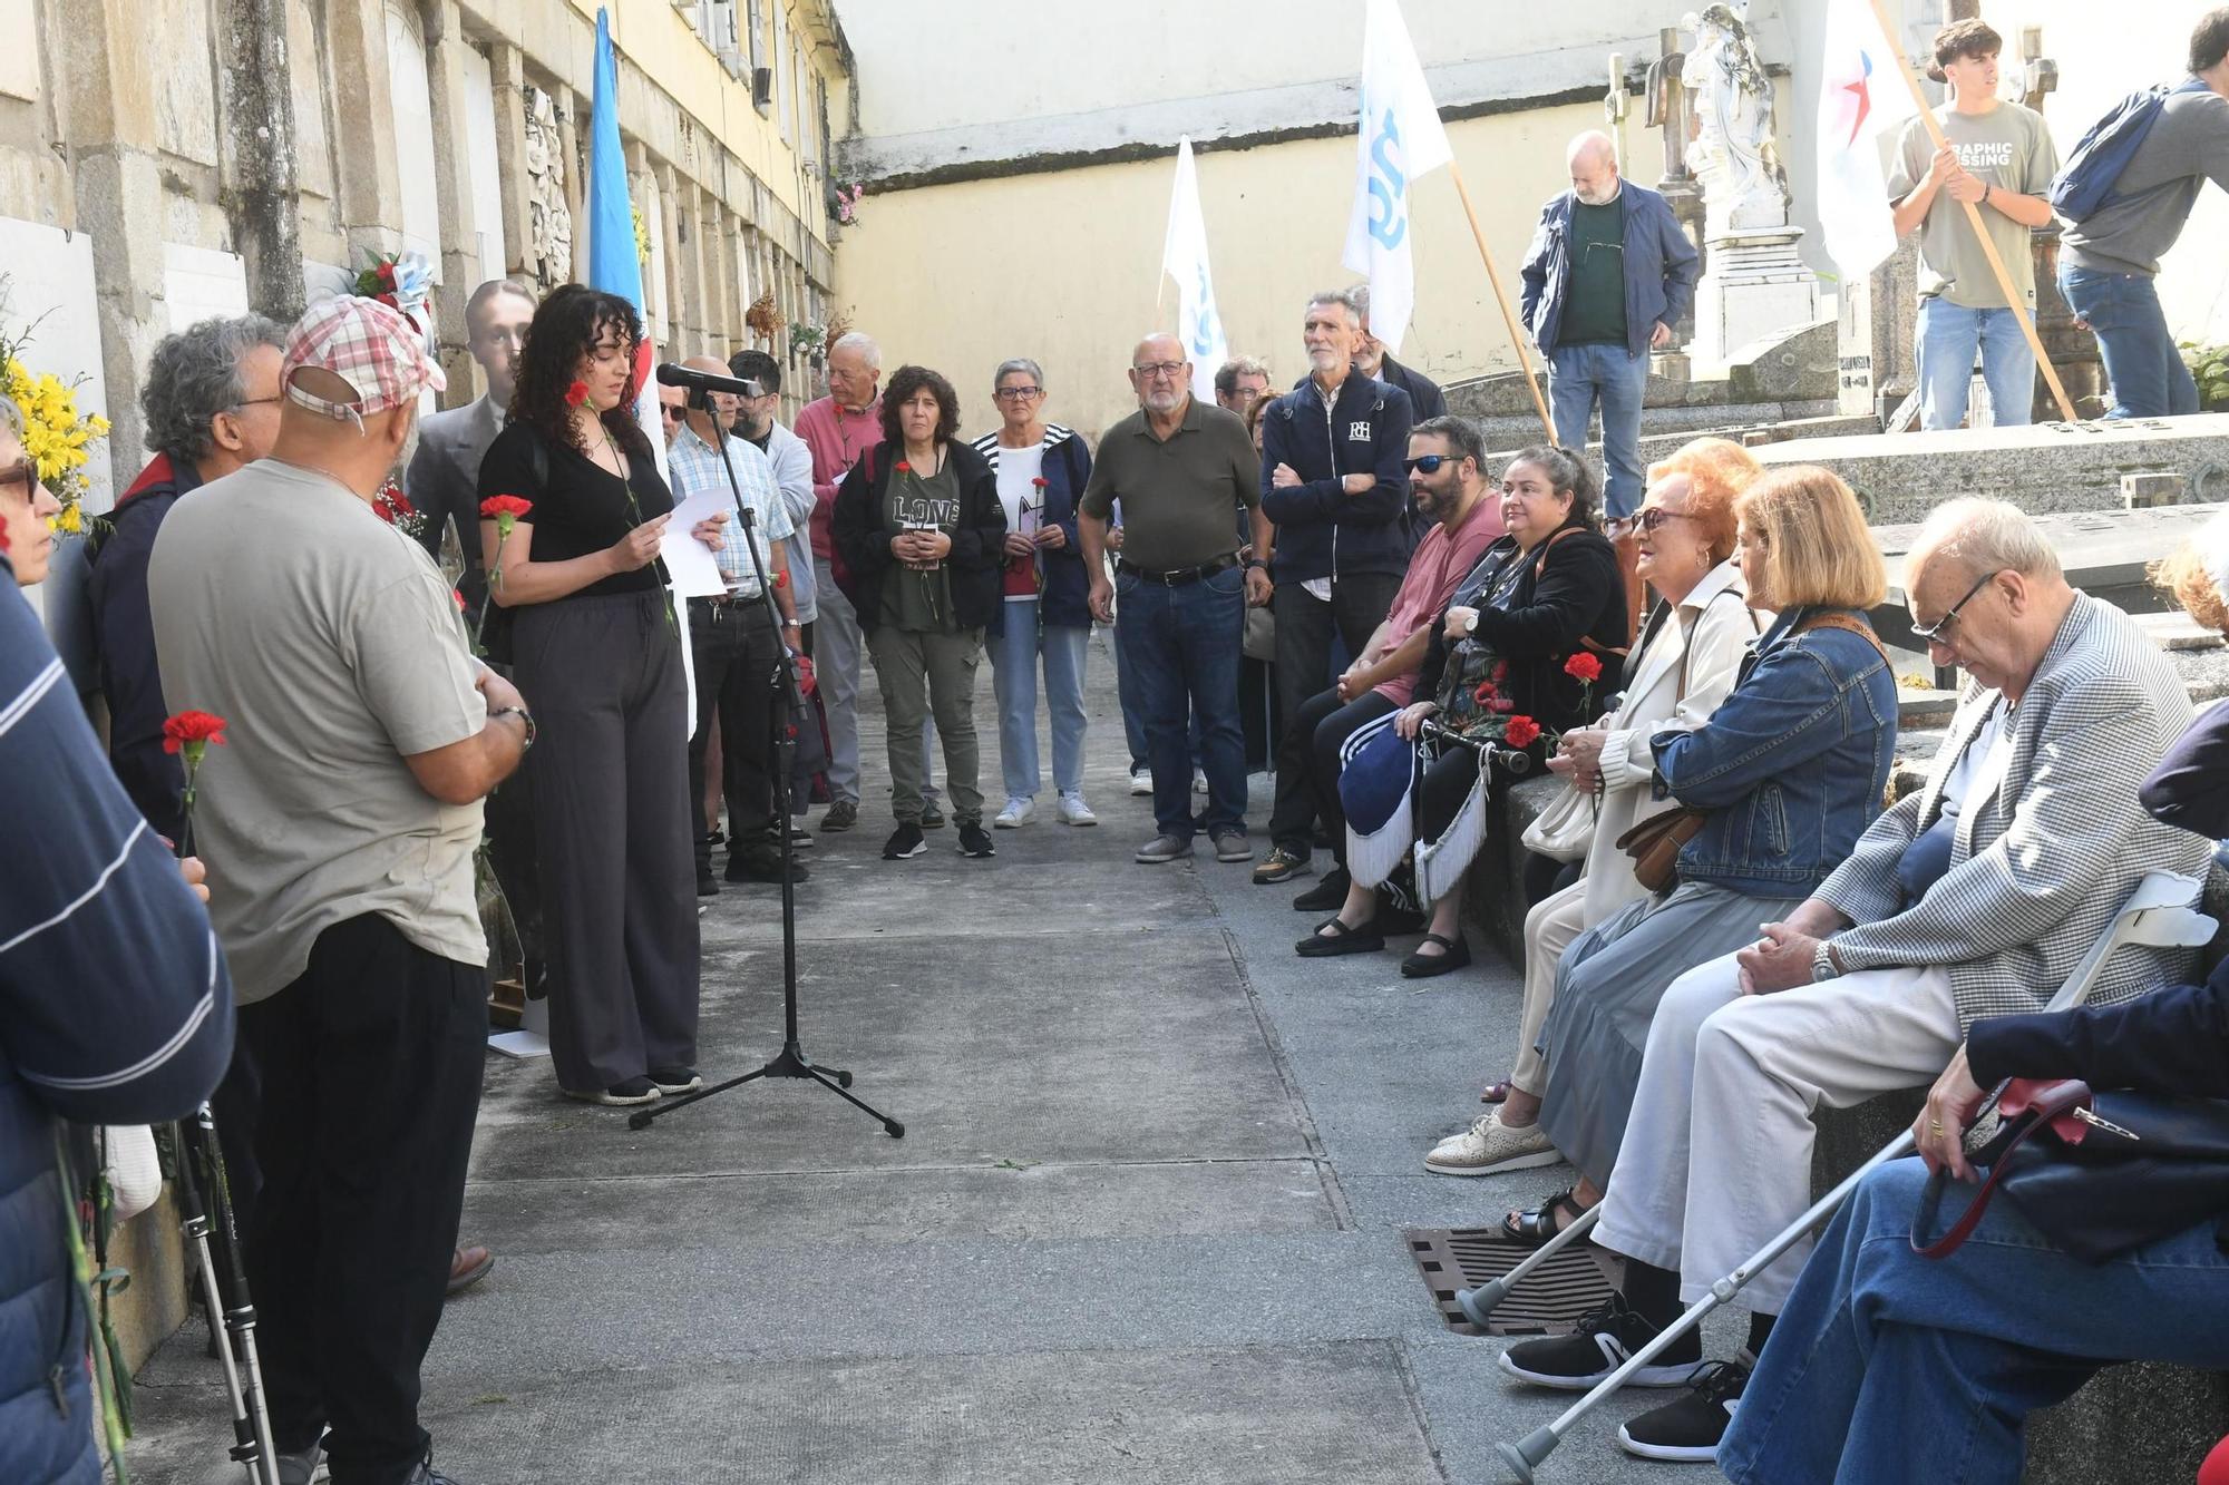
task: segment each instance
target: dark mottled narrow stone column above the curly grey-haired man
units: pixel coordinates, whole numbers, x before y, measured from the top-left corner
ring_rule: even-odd
[[[303,283],[285,0],[221,0],[214,20],[225,221],[245,259],[247,303],[290,323]]]

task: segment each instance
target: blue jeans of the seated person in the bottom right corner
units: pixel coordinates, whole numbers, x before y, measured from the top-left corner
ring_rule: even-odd
[[[2229,1367],[2213,1222],[2093,1269],[1995,1202],[1930,1260],[1910,1246],[1926,1180],[1919,1159],[1890,1162],[1834,1217],[1719,1445],[1725,1478],[2017,1485],[2026,1416],[2104,1362]],[[1950,1186],[1937,1229],[1970,1195]]]

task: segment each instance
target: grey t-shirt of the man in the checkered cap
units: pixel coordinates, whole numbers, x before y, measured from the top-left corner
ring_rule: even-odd
[[[481,807],[444,805],[403,763],[488,722],[432,557],[341,484],[261,459],[172,508],[147,600],[165,702],[225,718],[194,845],[239,1001],[283,990],[323,930],[368,912],[486,963]]]

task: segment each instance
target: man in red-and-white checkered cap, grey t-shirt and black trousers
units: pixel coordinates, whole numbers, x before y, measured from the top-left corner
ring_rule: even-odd
[[[372,513],[441,370],[372,299],[303,314],[270,457],[149,562],[165,702],[227,720],[192,829],[261,1106],[245,1233],[279,1478],[441,1485],[417,1420],[486,1037],[481,798],[533,742],[457,595]]]

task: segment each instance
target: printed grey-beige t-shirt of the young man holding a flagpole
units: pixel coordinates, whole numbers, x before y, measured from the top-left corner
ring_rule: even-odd
[[[2060,172],[2060,152],[2051,143],[2051,129],[2035,109],[1999,100],[1986,114],[1959,114],[1944,105],[1935,109],[1944,138],[1957,152],[1966,174],[2002,192],[2042,196],[2051,190],[2051,176]],[[1928,178],[1935,163],[1935,138],[1924,118],[1904,125],[1897,158],[1888,167],[1888,198],[1904,201]],[[1982,221],[1988,239],[1997,245],[1997,256],[2013,274],[2022,308],[2035,308],[2035,254],[2028,248],[2028,227],[2004,212],[1984,205]],[[1919,297],[1941,294],[1966,310],[2002,310],[2004,288],[1988,268],[1966,207],[1937,192],[1928,214],[1919,223]]]

